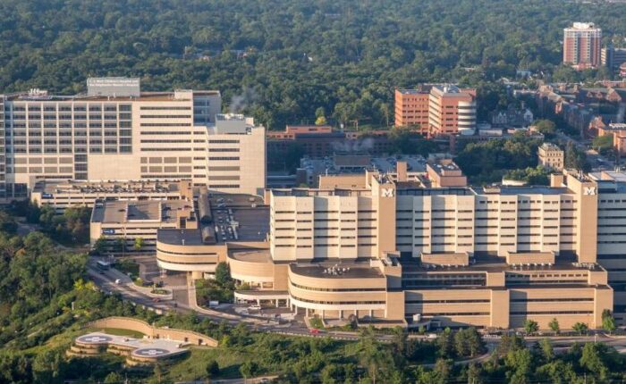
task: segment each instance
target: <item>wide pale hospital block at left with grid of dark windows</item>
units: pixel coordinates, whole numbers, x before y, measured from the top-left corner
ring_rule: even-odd
[[[238,157],[220,166],[252,168],[263,175],[254,188],[265,188],[265,134],[246,121],[241,145],[254,161],[241,155],[216,156],[209,140],[227,122],[217,91],[140,92],[139,79],[89,79],[88,92],[53,96],[29,93],[0,96],[3,100],[5,154],[0,198],[28,196],[39,179],[190,179],[196,187],[223,184],[214,177],[210,157]],[[250,131],[250,133],[249,133]],[[261,133],[262,132],[262,133]],[[236,140],[233,138],[233,140]],[[225,183],[224,183],[225,184]],[[217,191],[249,192],[251,185],[228,183]],[[238,185],[233,188],[233,185]],[[0,189],[2,189],[0,188]]]

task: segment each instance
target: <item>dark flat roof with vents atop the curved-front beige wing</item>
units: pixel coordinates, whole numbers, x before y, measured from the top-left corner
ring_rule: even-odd
[[[303,276],[326,279],[376,279],[385,275],[369,262],[320,261],[319,263],[292,263],[292,272]]]

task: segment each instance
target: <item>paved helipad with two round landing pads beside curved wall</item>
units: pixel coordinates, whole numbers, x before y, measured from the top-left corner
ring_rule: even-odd
[[[75,344],[77,346],[121,346],[131,350],[132,356],[157,360],[187,352],[183,346],[188,343],[164,338],[129,338],[93,332],[76,338]]]

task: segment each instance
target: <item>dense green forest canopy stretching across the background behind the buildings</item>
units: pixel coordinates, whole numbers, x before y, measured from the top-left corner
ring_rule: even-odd
[[[563,28],[595,21],[623,41],[626,7],[542,0],[0,1],[0,88],[74,93],[89,76],[140,76],[148,90],[216,88],[272,129],[393,121],[393,88],[477,86],[516,69],[554,78]],[[502,105],[500,105],[502,106]]]

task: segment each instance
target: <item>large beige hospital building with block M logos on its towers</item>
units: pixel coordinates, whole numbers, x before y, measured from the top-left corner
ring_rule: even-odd
[[[626,321],[621,173],[500,188],[355,177],[266,191],[266,241],[227,241],[220,254],[252,288],[237,299],[376,326],[596,328],[605,309]],[[176,246],[174,260],[186,248]]]

